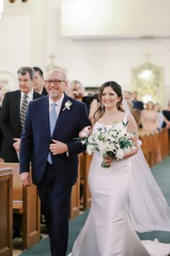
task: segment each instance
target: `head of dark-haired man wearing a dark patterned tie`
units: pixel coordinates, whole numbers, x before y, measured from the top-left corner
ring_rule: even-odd
[[[22,93],[30,93],[34,84],[35,70],[32,67],[21,67],[18,71],[19,89]]]

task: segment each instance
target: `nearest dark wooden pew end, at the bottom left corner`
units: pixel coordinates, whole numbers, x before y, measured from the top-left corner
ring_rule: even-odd
[[[12,168],[0,168],[0,255],[12,256]]]

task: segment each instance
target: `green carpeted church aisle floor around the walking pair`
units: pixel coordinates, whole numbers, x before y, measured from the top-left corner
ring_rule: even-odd
[[[165,158],[164,161],[158,163],[156,166],[152,168],[153,176],[155,177],[158,185],[161,187],[164,196],[166,197],[167,202],[170,205],[170,157]],[[76,218],[73,221],[70,221],[70,231],[69,231],[69,240],[68,240],[68,253],[71,252],[71,248],[73,247],[73,242],[81,231],[84,222],[86,221],[86,217],[89,211],[86,211],[81,216]],[[170,232],[165,231],[151,231],[143,234],[138,234],[140,239],[155,239],[156,237],[160,242],[169,243],[170,241]],[[31,249],[22,252],[22,256],[50,256],[50,245],[49,239],[43,239],[40,243],[35,244]]]

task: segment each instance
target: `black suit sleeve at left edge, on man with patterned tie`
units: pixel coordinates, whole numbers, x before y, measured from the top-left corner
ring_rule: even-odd
[[[9,114],[9,97],[8,93],[4,96],[4,101],[1,106],[1,132],[7,140],[13,140],[13,132],[10,124],[10,114]]]

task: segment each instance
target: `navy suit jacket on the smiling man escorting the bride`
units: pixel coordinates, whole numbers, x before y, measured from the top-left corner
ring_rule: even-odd
[[[63,111],[68,100],[73,104],[70,110]],[[29,171],[31,161],[32,181],[34,184],[39,184],[45,171],[50,143],[55,139],[68,145],[68,156],[66,153],[52,155],[58,181],[66,186],[75,184],[78,169],[77,155],[86,148],[81,143],[76,143],[73,138],[78,137],[81,129],[89,124],[85,104],[64,95],[53,135],[50,136],[48,96],[30,102],[21,136],[20,173]]]

